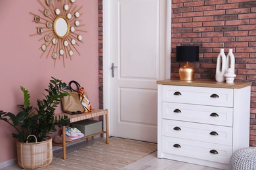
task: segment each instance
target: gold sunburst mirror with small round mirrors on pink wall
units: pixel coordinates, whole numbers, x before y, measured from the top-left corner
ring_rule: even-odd
[[[83,43],[83,31],[79,17],[82,7],[77,8],[75,0],[37,0],[42,9],[39,9],[39,14],[33,15],[32,22],[38,24],[36,32],[33,35],[39,35],[38,41],[42,42],[39,50],[41,56],[52,58],[54,67],[56,60],[63,61],[65,67],[65,59],[72,60],[74,52],[79,54],[76,46]],[[79,54],[80,56],[80,54]]]

